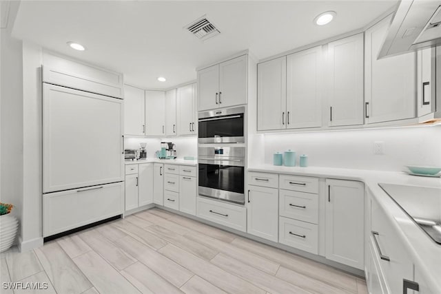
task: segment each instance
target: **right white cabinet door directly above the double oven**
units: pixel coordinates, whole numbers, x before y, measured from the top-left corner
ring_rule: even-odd
[[[247,61],[243,55],[219,65],[219,106],[247,103]]]

